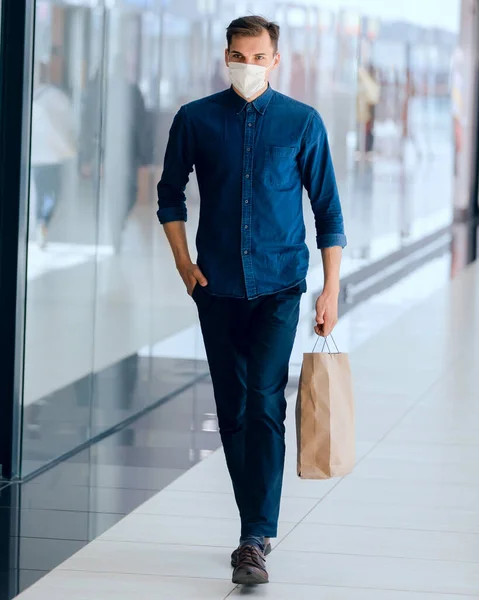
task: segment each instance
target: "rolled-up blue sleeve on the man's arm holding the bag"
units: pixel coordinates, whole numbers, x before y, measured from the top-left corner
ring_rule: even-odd
[[[303,136],[300,168],[316,224],[318,248],[347,244],[333,161],[326,128],[317,112],[310,118]]]

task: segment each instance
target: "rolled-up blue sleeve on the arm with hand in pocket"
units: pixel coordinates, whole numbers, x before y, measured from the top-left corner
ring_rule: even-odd
[[[186,107],[175,116],[166,148],[163,173],[158,183],[158,220],[162,225],[186,221],[186,185],[193,171],[193,140]]]

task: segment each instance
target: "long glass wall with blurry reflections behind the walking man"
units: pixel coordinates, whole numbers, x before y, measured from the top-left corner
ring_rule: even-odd
[[[228,85],[239,14],[281,24],[272,84],[323,115],[349,271],[450,222],[456,32],[347,4],[37,0],[24,475],[207,372],[155,188],[176,111]],[[188,201],[193,249],[194,177]]]

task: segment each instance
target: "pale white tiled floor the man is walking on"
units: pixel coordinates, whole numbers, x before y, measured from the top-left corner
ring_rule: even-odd
[[[238,523],[221,450],[22,600],[467,600],[479,597],[479,266],[351,354],[358,464],[295,475],[293,398],[272,583],[235,588]]]

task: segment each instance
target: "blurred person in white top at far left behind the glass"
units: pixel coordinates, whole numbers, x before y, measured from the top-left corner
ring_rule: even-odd
[[[51,83],[50,65],[35,69],[32,104],[31,166],[36,191],[37,240],[45,248],[48,228],[62,187],[63,168],[77,153],[73,106]]]

